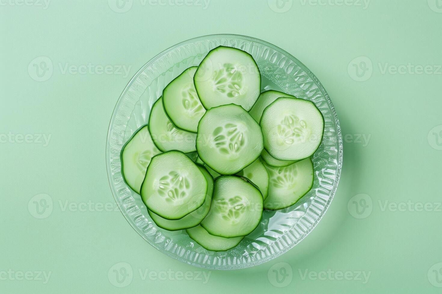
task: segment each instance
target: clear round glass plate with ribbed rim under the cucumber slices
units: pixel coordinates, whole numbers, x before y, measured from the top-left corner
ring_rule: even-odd
[[[313,155],[312,190],[295,205],[264,211],[259,226],[235,248],[208,251],[186,232],[166,231],[149,217],[141,197],[121,175],[120,150],[138,127],[148,122],[150,109],[164,87],[187,67],[200,63],[219,45],[249,52],[259,66],[264,89],[274,89],[313,101],[324,115],[324,138]],[[219,34],[197,37],[161,52],[130,80],[115,106],[106,143],[110,188],[126,220],[160,252],[179,261],[209,269],[247,268],[281,255],[299,243],[320,221],[335,194],[342,167],[342,135],[338,117],[324,87],[314,74],[286,51],[252,37]]]

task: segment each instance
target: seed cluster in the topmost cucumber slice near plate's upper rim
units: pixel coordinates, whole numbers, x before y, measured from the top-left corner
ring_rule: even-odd
[[[240,69],[231,63],[224,63],[213,74],[213,87],[229,98],[240,96],[243,74]]]

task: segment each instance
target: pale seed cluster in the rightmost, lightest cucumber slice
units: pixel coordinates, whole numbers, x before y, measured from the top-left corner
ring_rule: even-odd
[[[276,127],[279,146],[305,142],[309,138],[310,130],[307,123],[296,115],[286,115]]]

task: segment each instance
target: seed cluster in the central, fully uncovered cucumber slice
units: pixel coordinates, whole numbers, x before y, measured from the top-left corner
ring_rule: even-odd
[[[212,135],[217,150],[230,157],[238,156],[246,143],[243,132],[234,123],[226,123],[224,127],[215,128]]]

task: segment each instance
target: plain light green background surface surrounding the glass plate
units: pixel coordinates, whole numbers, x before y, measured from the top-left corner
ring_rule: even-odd
[[[211,0],[206,9],[196,0],[187,2],[195,4],[191,6],[133,0],[123,13],[113,11],[107,0],[53,0],[47,9],[34,1],[27,0],[33,4],[27,6],[20,0],[0,0],[0,134],[10,132],[13,141],[0,137],[1,293],[440,293],[442,212],[436,208],[442,201],[442,127],[436,126],[442,125],[442,9],[436,3],[442,7],[442,1],[372,0],[364,9],[359,0],[320,1],[325,5],[289,0],[284,13],[272,10],[275,6],[267,0]],[[339,3],[343,5],[332,5]],[[122,89],[158,52],[213,33],[263,39],[316,74],[347,135],[339,187],[312,233],[270,262],[212,271],[206,284],[198,279],[143,280],[139,270],[194,274],[201,269],[153,249],[118,211],[96,211],[93,206],[79,211],[65,205],[84,210],[81,203],[90,201],[115,207],[105,144]],[[32,78],[31,61],[39,56],[53,63],[53,74],[44,82]],[[42,59],[37,61],[40,65]],[[130,66],[130,72],[63,71],[66,65],[88,63]],[[431,67],[427,74],[404,67],[399,74],[390,67],[409,63]],[[368,71],[362,71],[364,65]],[[384,72],[385,65],[390,70]],[[366,73],[366,81],[354,80],[354,66]],[[32,134],[28,141],[37,140],[34,134],[51,137],[44,146],[19,143],[17,134]],[[370,140],[357,140],[358,134]],[[44,219],[33,216],[31,198],[37,194],[48,194],[53,201],[53,211]],[[372,200],[361,215],[353,201],[363,202],[351,200],[357,194]],[[413,205],[405,211],[384,209],[385,201],[400,205],[409,200],[431,203],[433,211],[412,211]],[[108,277],[119,262],[133,269],[131,283],[123,288]],[[281,284],[274,264],[276,270],[285,266]],[[303,279],[307,269],[322,278]],[[370,272],[370,278],[365,284],[363,279],[323,279],[320,272],[328,269]],[[11,278],[9,270],[51,275],[44,284]]]

